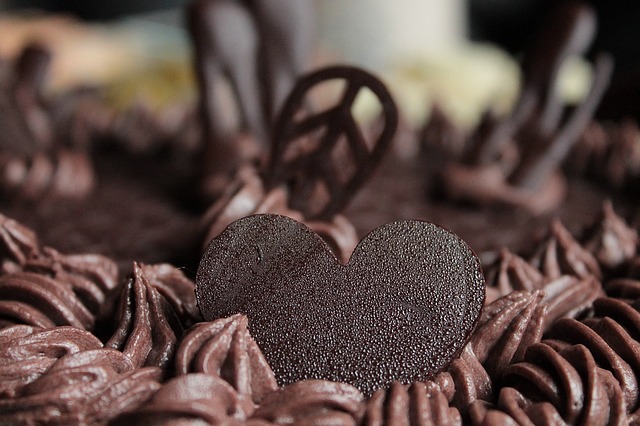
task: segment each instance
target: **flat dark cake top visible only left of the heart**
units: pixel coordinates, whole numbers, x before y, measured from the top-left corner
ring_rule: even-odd
[[[111,150],[92,158],[95,190],[81,200],[7,202],[0,211],[65,253],[100,253],[126,268],[132,261],[197,265],[201,211],[190,199],[190,169],[168,154]],[[186,161],[186,159],[185,159]]]

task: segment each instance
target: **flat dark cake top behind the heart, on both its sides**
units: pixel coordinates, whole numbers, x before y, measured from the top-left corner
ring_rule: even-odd
[[[183,160],[99,153],[93,156],[96,190],[88,198],[14,204],[4,200],[0,211],[34,229],[44,244],[66,253],[100,253],[127,268],[134,260],[171,262],[193,275],[200,259],[204,207],[192,197],[190,160]],[[344,212],[360,237],[393,220],[426,220],[459,235],[487,265],[503,247],[530,252],[552,218],[559,218],[572,233],[581,232],[607,198],[632,225],[640,223],[638,195],[611,192],[583,178],[570,178],[565,202],[545,216],[455,203],[433,194],[437,183],[425,178],[427,163],[393,151],[382,160]]]

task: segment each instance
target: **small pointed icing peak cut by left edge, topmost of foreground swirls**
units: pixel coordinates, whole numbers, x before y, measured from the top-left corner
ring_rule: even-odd
[[[0,259],[2,272],[22,269],[40,251],[38,237],[31,229],[0,214]]]

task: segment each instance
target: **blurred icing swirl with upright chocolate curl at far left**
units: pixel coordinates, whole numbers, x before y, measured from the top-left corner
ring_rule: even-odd
[[[0,88],[0,192],[12,199],[81,198],[94,187],[88,156],[54,140],[41,93],[49,60],[45,48],[28,45]]]

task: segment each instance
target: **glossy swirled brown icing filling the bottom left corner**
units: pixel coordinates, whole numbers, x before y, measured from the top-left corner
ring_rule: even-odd
[[[135,369],[126,355],[102,348],[79,329],[34,330],[11,343],[14,353],[21,346],[25,351],[20,362],[9,364],[14,372],[8,370],[8,376],[24,376],[15,395],[0,400],[3,424],[104,423],[135,408],[159,387],[159,369]],[[29,364],[36,368],[24,370]]]

